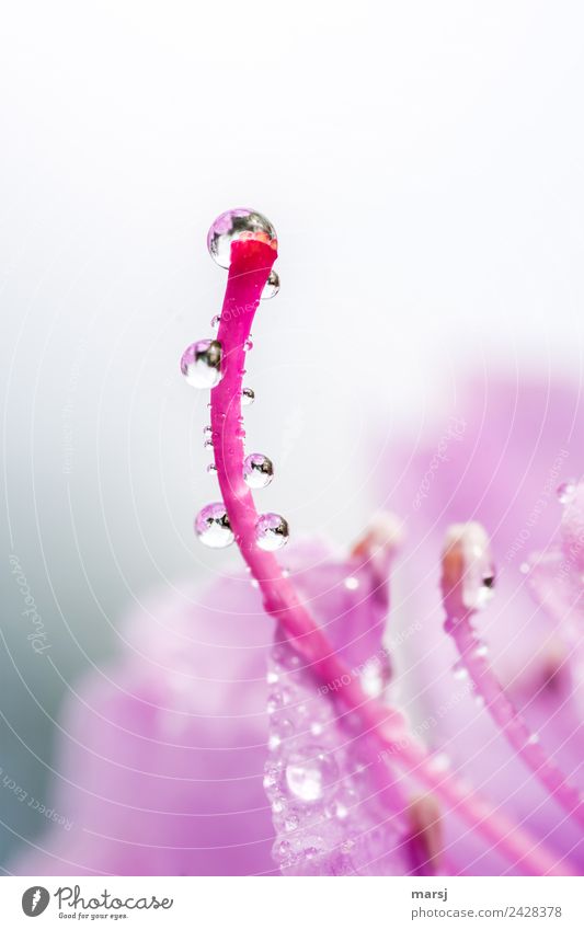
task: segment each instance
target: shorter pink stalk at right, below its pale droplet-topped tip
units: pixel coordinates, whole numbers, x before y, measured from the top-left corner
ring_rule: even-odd
[[[497,727],[551,796],[584,826],[584,803],[580,791],[570,784],[562,770],[548,757],[537,736],[503,690],[486,658],[484,644],[471,625],[471,616],[466,615],[461,619],[448,617],[444,627],[455,641],[477,693],[484,699]]]

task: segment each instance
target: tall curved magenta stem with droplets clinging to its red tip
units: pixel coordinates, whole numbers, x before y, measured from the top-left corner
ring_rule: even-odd
[[[217,478],[222,500],[241,554],[257,581],[265,610],[294,641],[322,681],[335,679],[348,684],[339,692],[347,711],[360,720],[364,733],[375,735],[397,762],[412,771],[421,782],[454,808],[469,825],[491,842],[513,864],[533,874],[571,874],[557,857],[537,839],[482,801],[451,773],[436,774],[424,748],[408,735],[399,711],[368,697],[358,678],[330,645],[279,567],[276,558],[256,544],[259,514],[243,480],[243,425],[241,391],[245,364],[245,344],[262,290],[276,259],[264,242],[236,240],[231,244],[231,265],[220,314],[218,341],[222,346],[222,379],[211,391],[211,429]]]

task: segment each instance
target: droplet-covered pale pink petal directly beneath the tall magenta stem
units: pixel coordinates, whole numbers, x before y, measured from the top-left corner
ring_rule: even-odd
[[[381,807],[367,746],[294,646],[276,639],[267,668],[264,789],[285,874],[394,874],[402,826]]]

